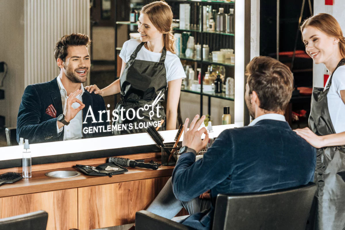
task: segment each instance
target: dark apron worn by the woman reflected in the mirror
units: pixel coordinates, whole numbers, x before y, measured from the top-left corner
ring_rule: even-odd
[[[165,99],[164,93],[167,89],[167,73],[164,65],[166,49],[163,48],[159,62],[136,60],[144,44],[145,42],[141,42],[137,46],[120,77],[121,101],[116,105],[119,117],[112,125],[117,127],[120,125],[121,130],[113,130],[114,135],[132,134],[134,123],[145,131],[149,124],[163,119],[165,122],[161,130],[165,130],[166,127],[164,108],[160,104]],[[124,119],[121,119],[120,109],[124,109],[122,113],[126,115],[128,113],[128,117],[122,116]]]

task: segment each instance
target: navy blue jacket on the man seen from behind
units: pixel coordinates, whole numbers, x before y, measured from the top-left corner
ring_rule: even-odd
[[[254,126],[224,130],[195,162],[193,153],[180,156],[172,174],[174,194],[189,201],[207,190],[218,194],[262,192],[308,184],[314,179],[316,149],[299,137],[287,122],[264,119]],[[210,210],[182,223],[210,229]]]

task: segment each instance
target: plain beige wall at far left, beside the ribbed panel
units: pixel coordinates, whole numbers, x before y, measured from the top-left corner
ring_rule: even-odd
[[[24,91],[24,0],[0,1],[0,62],[8,65],[0,100],[0,115],[6,126],[16,126]],[[0,73],[2,79],[4,73]],[[0,79],[0,80],[1,80]]]

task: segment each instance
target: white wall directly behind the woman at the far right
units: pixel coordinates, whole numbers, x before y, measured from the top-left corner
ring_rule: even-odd
[[[345,0],[334,0],[333,6],[326,6],[325,0],[314,0],[314,15],[318,13],[328,13],[339,22],[343,33],[345,32]],[[324,74],[326,67],[318,64],[313,67],[313,86],[324,87]]]

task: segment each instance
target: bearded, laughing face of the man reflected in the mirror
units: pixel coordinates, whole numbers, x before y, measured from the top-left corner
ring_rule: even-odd
[[[90,71],[90,56],[85,45],[69,46],[63,63],[65,75],[72,83],[84,83]]]

